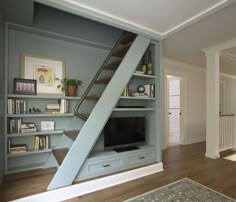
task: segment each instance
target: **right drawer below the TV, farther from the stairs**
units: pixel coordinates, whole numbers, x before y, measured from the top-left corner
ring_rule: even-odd
[[[134,167],[139,165],[145,165],[147,163],[152,163],[155,160],[154,150],[146,150],[137,152],[135,154],[130,154],[127,156],[127,167]]]

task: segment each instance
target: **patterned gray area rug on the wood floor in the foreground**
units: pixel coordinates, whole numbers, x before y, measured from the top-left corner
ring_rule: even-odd
[[[126,202],[236,202],[236,200],[214,191],[193,180],[184,178],[150,192],[136,196]]]

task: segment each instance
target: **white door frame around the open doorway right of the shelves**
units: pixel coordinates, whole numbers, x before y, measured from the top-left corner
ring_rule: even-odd
[[[164,69],[164,137],[163,149],[168,147],[169,137],[169,87],[167,75],[172,75],[180,78],[180,144],[185,144],[186,140],[186,117],[187,117],[187,93],[186,93],[186,80],[187,75],[185,72]]]

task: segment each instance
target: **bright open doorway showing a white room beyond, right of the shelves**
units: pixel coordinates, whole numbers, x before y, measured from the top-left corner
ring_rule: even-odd
[[[180,82],[181,78],[173,75],[167,75],[168,82],[168,106],[169,106],[169,135],[168,146],[180,144]]]

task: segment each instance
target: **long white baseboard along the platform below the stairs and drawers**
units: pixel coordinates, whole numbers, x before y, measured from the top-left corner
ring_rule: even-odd
[[[138,179],[147,175],[163,171],[163,164],[156,163],[153,165],[145,166],[135,170],[130,170],[115,175],[103,177],[80,184],[75,184],[40,194],[27,196],[25,198],[17,199],[17,202],[42,202],[42,201],[64,201],[70,198],[78,197],[84,194],[95,192],[121,183]]]

